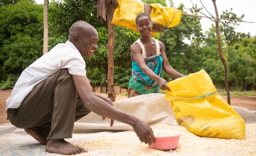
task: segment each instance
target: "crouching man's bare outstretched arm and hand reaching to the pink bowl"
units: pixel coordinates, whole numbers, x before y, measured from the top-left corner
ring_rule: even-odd
[[[90,82],[87,77],[73,75],[73,80],[75,88],[78,91],[78,95],[87,109],[97,113],[99,116],[112,118],[116,121],[127,123],[129,126],[132,126],[141,142],[149,145],[151,145],[152,142],[156,142],[154,132],[146,122],[114,108],[110,104],[107,104],[107,101],[96,96],[92,91],[92,87],[90,86]]]

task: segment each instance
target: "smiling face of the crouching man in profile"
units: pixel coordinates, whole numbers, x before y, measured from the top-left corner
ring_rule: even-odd
[[[78,48],[82,57],[91,58],[93,52],[97,50],[98,34],[96,31],[92,31],[87,34],[78,35],[78,42],[75,47]]]

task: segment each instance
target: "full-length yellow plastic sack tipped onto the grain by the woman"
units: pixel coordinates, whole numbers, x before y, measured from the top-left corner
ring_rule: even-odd
[[[169,82],[165,97],[178,125],[203,137],[245,139],[245,121],[218,95],[213,82],[202,69]]]

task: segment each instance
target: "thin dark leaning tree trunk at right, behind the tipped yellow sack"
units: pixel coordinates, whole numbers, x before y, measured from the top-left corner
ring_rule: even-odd
[[[230,90],[229,90],[229,87],[228,87],[228,67],[227,67],[225,59],[223,57],[222,48],[221,48],[221,42],[220,42],[218,9],[217,9],[217,6],[216,6],[216,0],[212,0],[212,1],[213,1],[213,6],[214,6],[214,9],[215,9],[215,13],[216,13],[215,28],[216,28],[216,37],[217,37],[217,40],[218,40],[218,51],[219,51],[219,55],[220,55],[220,60],[223,62],[223,66],[224,66],[225,89],[226,89],[227,95],[228,95],[228,104],[231,105],[231,102],[230,102]]]

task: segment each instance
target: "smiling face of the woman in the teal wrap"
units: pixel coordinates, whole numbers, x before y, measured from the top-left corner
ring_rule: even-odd
[[[148,36],[152,30],[152,23],[148,16],[142,16],[137,21],[137,29],[141,35]]]

